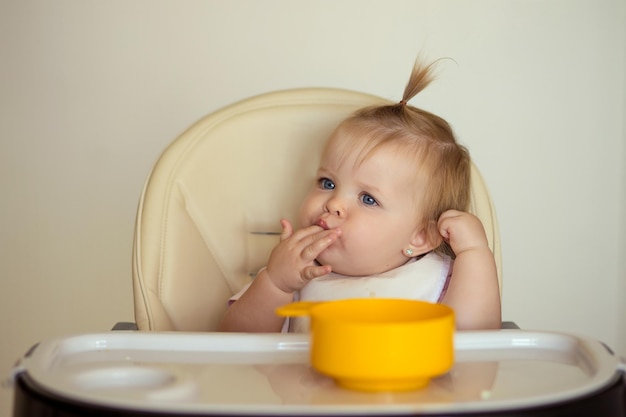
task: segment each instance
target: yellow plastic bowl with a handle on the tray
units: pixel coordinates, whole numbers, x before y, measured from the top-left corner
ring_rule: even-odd
[[[311,364],[344,388],[415,390],[454,363],[454,312],[441,304],[349,299],[297,302],[277,313],[310,316]]]

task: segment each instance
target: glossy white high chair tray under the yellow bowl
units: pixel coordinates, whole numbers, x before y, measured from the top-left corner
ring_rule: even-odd
[[[623,412],[623,364],[588,338],[456,333],[452,370],[402,393],[339,388],[310,367],[308,348],[304,334],[111,332],[51,340],[14,369],[14,416],[34,415],[29,395],[74,410],[93,407],[97,415],[449,415],[580,409],[577,401],[609,388],[618,390],[612,407],[621,401]]]

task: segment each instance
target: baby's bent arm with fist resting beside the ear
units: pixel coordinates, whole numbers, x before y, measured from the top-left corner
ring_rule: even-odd
[[[454,309],[457,329],[499,329],[498,274],[482,223],[470,213],[449,210],[439,218],[439,233],[456,255],[443,303]]]

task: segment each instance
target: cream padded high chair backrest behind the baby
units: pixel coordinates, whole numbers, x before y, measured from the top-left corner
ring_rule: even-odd
[[[215,330],[278,242],[279,220],[296,218],[327,137],[354,110],[385,102],[339,89],[279,91],[210,114],[172,142],[137,212],[139,329]],[[495,212],[476,169],[472,197],[500,268]]]

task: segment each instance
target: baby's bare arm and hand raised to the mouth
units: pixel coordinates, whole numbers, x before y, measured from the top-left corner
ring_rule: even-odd
[[[331,267],[316,265],[315,258],[337,240],[338,230],[310,226],[294,232],[287,220],[282,220],[281,226],[281,241],[272,250],[267,268],[228,307],[220,331],[280,331],[285,319],[276,315],[276,308],[290,303],[293,293],[311,279],[330,273]]]

